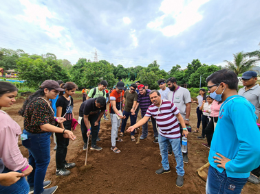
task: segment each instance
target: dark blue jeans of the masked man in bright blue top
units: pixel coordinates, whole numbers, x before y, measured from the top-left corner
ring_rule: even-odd
[[[220,173],[213,167],[208,168],[208,178],[206,183],[206,194],[237,194],[241,193],[248,178],[230,178],[226,175],[226,170]]]

